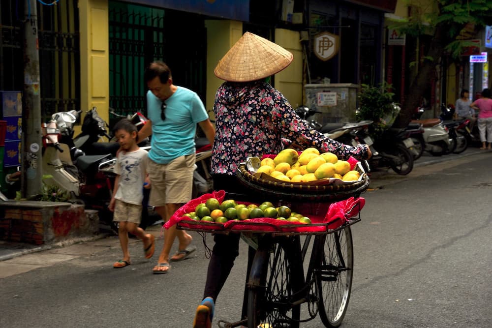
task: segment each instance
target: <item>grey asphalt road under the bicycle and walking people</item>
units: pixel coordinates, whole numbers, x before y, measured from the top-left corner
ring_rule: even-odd
[[[354,282],[342,327],[492,327],[491,161],[484,152],[405,177],[374,174],[353,226]],[[116,238],[0,262],[0,327],[190,327],[208,265],[202,238],[193,236],[197,252],[164,275],[151,273],[157,254],[146,260],[137,241],[132,265],[112,268],[121,256]],[[216,319],[239,318],[241,246]],[[323,325],[315,318],[301,327]]]

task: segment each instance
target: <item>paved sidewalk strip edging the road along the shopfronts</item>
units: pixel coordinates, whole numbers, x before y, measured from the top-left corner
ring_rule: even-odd
[[[452,161],[455,159],[472,156],[476,154],[483,154],[487,150],[480,150],[478,148],[468,148],[461,154],[449,154],[444,156],[431,156],[425,153],[421,158],[419,158],[415,164],[415,168],[419,168],[422,166],[427,166],[431,164],[436,164],[440,162]],[[405,178],[406,177],[406,178]],[[392,170],[389,171],[377,171],[371,173],[371,185],[370,188],[379,188],[384,184],[392,183],[392,181],[400,180],[400,179],[410,179],[410,176],[399,176],[394,173]],[[373,182],[372,182],[373,181]],[[158,221],[151,227],[148,227],[146,231],[148,233],[153,234],[156,239],[161,238],[161,229],[162,229],[162,221]],[[140,242],[138,239],[130,239],[130,245]],[[56,249],[66,248],[66,251],[63,251],[65,256],[75,256],[74,254],[80,253],[80,255],[91,254],[91,252],[98,252],[107,249],[107,247],[120,247],[118,236],[115,236],[113,233],[107,231],[102,232],[99,235],[93,236],[91,238],[79,238],[79,239],[71,239],[64,241],[62,243],[55,243],[49,245],[31,245],[27,243],[19,243],[19,242],[8,242],[8,241],[0,241],[0,272],[1,270],[1,261],[10,260],[22,255],[29,255],[34,252],[51,250],[49,253],[53,253]],[[77,251],[78,249],[78,251]],[[60,253],[60,252],[57,252]],[[31,259],[31,257],[29,257]],[[27,260],[29,260],[27,259]],[[37,263],[39,261],[33,261],[33,263]],[[30,262],[31,263],[31,262]],[[42,263],[46,263],[45,260]],[[31,263],[30,266],[33,264]],[[19,272],[20,273],[20,272]],[[1,277],[0,273],[0,277]]]

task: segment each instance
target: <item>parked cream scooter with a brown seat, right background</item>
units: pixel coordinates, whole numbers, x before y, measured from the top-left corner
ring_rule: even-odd
[[[433,156],[444,155],[450,149],[451,144],[448,131],[446,131],[441,119],[419,119],[425,110],[423,107],[419,107],[415,115],[417,119],[413,119],[411,122],[422,124],[426,145],[425,150]]]

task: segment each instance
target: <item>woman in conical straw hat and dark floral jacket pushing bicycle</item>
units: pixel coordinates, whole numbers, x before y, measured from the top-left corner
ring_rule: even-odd
[[[214,103],[215,190],[244,194],[245,188],[236,178],[238,163],[249,156],[278,153],[285,139],[333,152],[341,159],[370,157],[367,145],[350,147],[311,129],[287,99],[265,81],[287,67],[293,58],[279,45],[246,32],[215,67],[215,76],[226,81],[217,89]],[[239,255],[239,237],[239,234],[214,237],[204,299],[197,308],[194,328],[211,327],[215,300]]]

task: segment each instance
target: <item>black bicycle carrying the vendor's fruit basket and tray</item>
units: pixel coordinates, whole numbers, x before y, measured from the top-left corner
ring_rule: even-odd
[[[238,175],[239,177],[239,175]],[[241,180],[242,178],[240,178]],[[247,183],[246,180],[241,181]],[[265,186],[258,184],[254,187],[255,196],[227,194],[226,198],[240,201],[259,203],[258,196],[274,197]],[[277,194],[279,206],[284,199],[290,198],[288,202],[299,202],[307,205],[309,211],[326,213],[330,202],[342,200],[348,196],[358,196],[369,186],[369,178],[364,177],[351,190],[343,189],[329,195],[304,192]],[[327,187],[328,188],[328,187]],[[332,189],[337,189],[333,187]],[[265,192],[266,191],[266,192]],[[242,198],[244,197],[244,198]],[[261,199],[260,197],[260,199]],[[296,199],[296,198],[301,199]],[[296,200],[292,200],[296,199]],[[353,244],[351,226],[361,220],[360,206],[357,209],[357,217],[349,219],[346,223],[333,230],[324,231],[269,231],[269,223],[257,223],[249,226],[247,221],[232,222],[228,230],[205,229],[210,224],[195,223],[196,227],[203,226],[204,229],[191,228],[190,225],[181,226],[179,229],[188,229],[200,232],[214,233],[243,233],[247,243],[253,245],[256,251],[248,266],[247,278],[247,316],[237,322],[217,322],[220,328],[233,328],[247,325],[248,328],[298,328],[300,323],[314,319],[319,313],[320,319],[325,327],[338,327],[342,323],[348,308],[353,276]],[[312,224],[311,226],[326,223]],[[193,226],[193,223],[191,223]],[[215,224],[215,226],[217,226]],[[299,225],[290,225],[299,228]],[[250,228],[251,227],[251,228]],[[259,227],[259,229],[258,229]],[[262,228],[265,227],[265,228]],[[289,227],[289,225],[282,227]],[[273,228],[273,227],[270,227]],[[295,228],[294,228],[295,229]],[[304,241],[301,243],[301,237]],[[309,247],[312,247],[309,253]],[[307,272],[304,272],[304,262],[309,259]],[[301,305],[307,304],[306,317],[301,317]],[[244,312],[244,311],[243,311]]]

